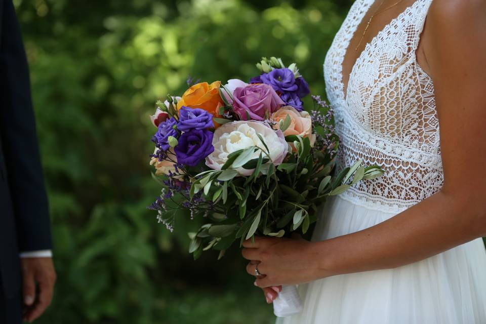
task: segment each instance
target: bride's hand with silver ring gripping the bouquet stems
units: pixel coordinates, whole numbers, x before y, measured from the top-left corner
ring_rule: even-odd
[[[255,286],[269,288],[281,285],[297,285],[328,276],[321,267],[320,247],[300,235],[293,238],[255,237],[255,241],[243,242],[243,257],[251,262],[247,272],[255,275],[255,267],[262,274]],[[265,293],[270,293],[266,290]],[[272,294],[273,295],[273,294]]]

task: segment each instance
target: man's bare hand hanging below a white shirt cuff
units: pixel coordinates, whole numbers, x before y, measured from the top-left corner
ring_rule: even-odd
[[[25,305],[23,319],[32,322],[51,304],[56,271],[51,258],[22,258],[21,264]]]

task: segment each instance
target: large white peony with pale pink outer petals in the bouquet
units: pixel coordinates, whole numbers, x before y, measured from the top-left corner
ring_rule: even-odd
[[[265,151],[265,146],[257,133],[264,139],[270,151],[269,155],[273,165],[281,164],[288,152],[288,144],[285,141],[284,133],[279,130],[274,131],[268,125],[258,121],[241,120],[224,124],[214,132],[214,152],[206,157],[206,165],[213,170],[221,170],[228,160],[228,155],[232,152],[250,146],[257,146]],[[261,152],[257,150],[252,158],[258,158]],[[263,154],[263,156],[266,157],[266,154]],[[237,168],[236,170],[243,176],[250,176],[254,171],[244,168]]]

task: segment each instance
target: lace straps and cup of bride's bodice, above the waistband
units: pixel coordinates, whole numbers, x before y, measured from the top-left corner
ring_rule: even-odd
[[[423,27],[417,10],[409,7],[366,45],[345,90],[343,60],[360,21],[350,12],[324,68],[328,99],[340,119],[380,137],[423,146],[435,144],[438,121],[432,80],[415,54]]]

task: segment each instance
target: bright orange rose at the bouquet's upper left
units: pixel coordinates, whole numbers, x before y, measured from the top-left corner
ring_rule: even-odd
[[[220,81],[212,84],[207,82],[198,83],[184,92],[181,100],[177,103],[177,109],[182,106],[189,108],[201,108],[213,114],[214,117],[221,117],[219,108],[224,106],[223,100],[219,95]],[[219,126],[214,123],[215,126]]]

